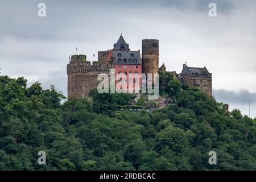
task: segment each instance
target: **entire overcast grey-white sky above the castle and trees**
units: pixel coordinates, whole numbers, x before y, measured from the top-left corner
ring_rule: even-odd
[[[46,17],[38,4],[46,3]],[[209,3],[217,17],[208,15]],[[256,117],[256,1],[1,1],[2,75],[24,76],[29,84],[53,84],[67,94],[68,57],[111,49],[122,33],[133,50],[142,39],[159,39],[160,64],[169,71],[207,67],[214,96]],[[97,60],[97,57],[95,58]]]

